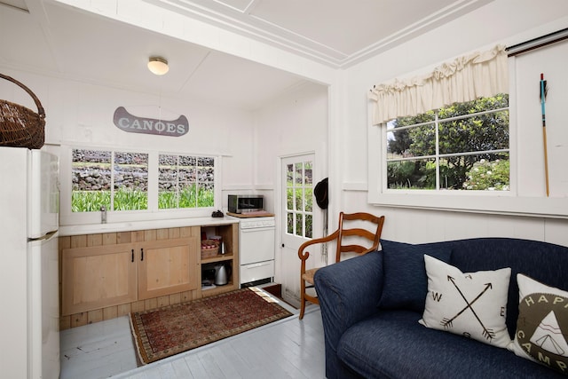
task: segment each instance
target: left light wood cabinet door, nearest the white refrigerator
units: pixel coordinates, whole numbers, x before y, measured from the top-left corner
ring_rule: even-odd
[[[62,251],[62,314],[87,312],[137,300],[134,245]]]

